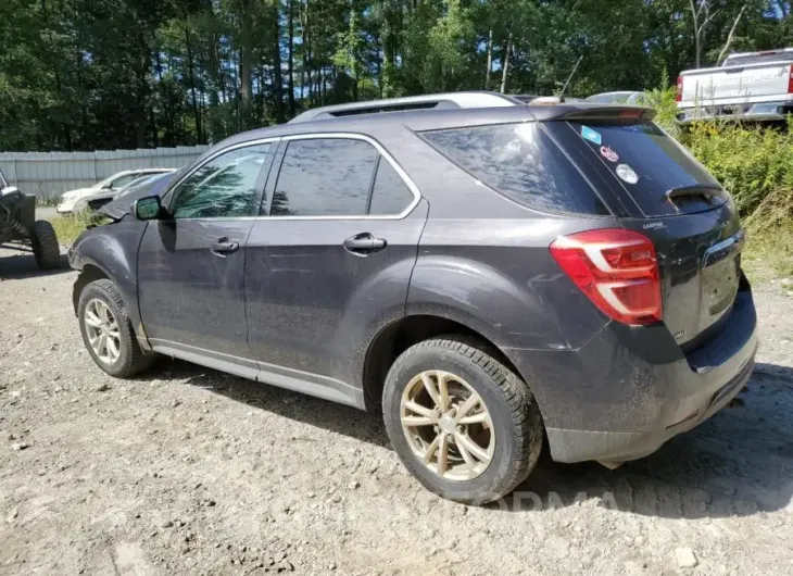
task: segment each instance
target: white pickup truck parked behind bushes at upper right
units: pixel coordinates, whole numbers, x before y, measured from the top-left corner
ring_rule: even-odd
[[[717,117],[784,120],[793,114],[793,48],[741,52],[721,66],[678,77],[678,122]]]

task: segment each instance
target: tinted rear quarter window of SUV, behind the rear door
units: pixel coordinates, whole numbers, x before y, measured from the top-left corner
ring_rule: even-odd
[[[538,123],[426,132],[471,176],[540,212],[607,215],[595,191]]]

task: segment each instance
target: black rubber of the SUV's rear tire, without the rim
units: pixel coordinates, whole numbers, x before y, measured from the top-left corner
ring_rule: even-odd
[[[492,502],[514,490],[534,468],[544,437],[540,409],[529,387],[487,350],[463,336],[419,342],[396,359],[382,393],[386,429],[405,467],[428,490],[466,504]],[[441,478],[419,461],[405,437],[400,418],[402,395],[414,377],[431,370],[464,378],[490,412],[495,448],[490,465],[476,478]]]

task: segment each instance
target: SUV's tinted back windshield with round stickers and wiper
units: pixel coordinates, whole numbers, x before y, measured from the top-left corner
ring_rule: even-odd
[[[559,135],[563,146],[567,138],[582,139],[618,179],[627,200],[635,202],[646,216],[704,212],[727,201],[726,193],[689,196],[676,198],[674,202],[667,199],[669,190],[695,185],[718,186],[718,181],[685,148],[652,122],[549,123],[549,129]]]

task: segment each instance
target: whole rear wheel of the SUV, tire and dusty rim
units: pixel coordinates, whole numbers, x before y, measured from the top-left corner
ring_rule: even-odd
[[[383,418],[405,467],[428,490],[492,502],[531,473],[543,427],[528,386],[465,338],[408,348],[386,378]]]

